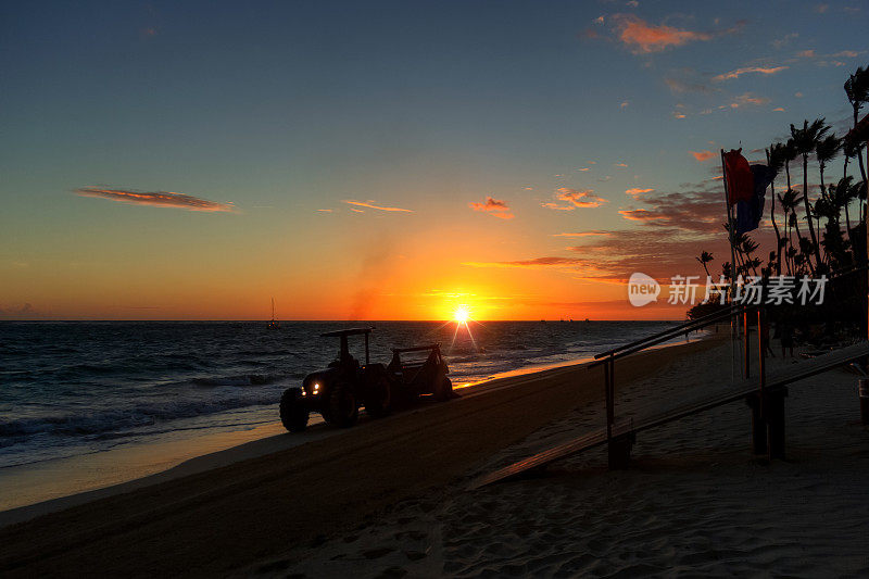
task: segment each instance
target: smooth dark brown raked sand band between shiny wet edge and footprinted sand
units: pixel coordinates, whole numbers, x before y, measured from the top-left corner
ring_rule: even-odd
[[[619,385],[715,343],[633,356],[619,365]],[[0,529],[0,571],[253,572],[293,549],[345,538],[406,501],[445,504],[451,484],[493,455],[602,398],[602,372],[581,365],[496,380],[475,395],[11,525]],[[278,559],[274,570],[291,563]]]

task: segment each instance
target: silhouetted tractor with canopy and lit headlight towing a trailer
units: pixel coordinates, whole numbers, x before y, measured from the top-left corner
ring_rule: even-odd
[[[329,425],[353,426],[358,410],[379,418],[395,405],[413,402],[423,394],[437,400],[449,400],[453,388],[446,378],[449,368],[441,356],[440,347],[395,349],[389,366],[371,364],[368,357],[368,335],[371,328],[327,331],[324,338],[340,338],[338,360],[329,367],[308,374],[301,388],[288,388],[280,398],[280,420],[287,430],[299,432],[307,426],[308,415],[318,412]],[[365,364],[361,365],[350,354],[348,337],[365,337]],[[401,360],[403,353],[428,352],[425,360]]]

